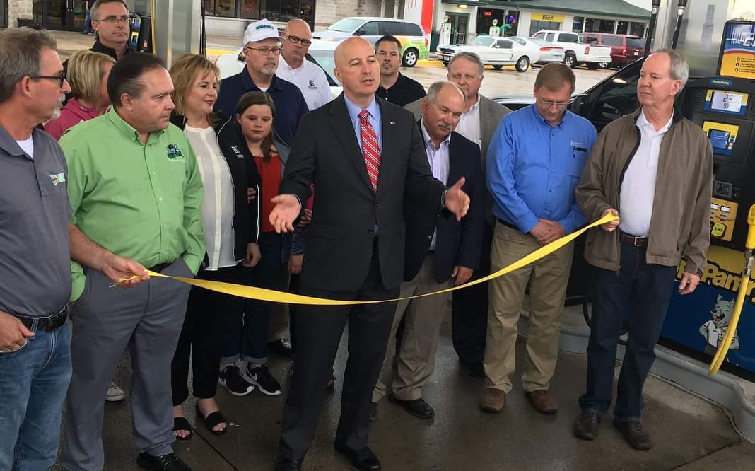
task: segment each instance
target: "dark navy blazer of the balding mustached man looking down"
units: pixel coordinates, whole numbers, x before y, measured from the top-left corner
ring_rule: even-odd
[[[418,122],[418,125],[419,122]],[[420,131],[421,132],[421,131]],[[404,256],[404,281],[417,276],[427,256],[433,231],[437,230],[435,242],[435,279],[442,283],[451,278],[454,266],[479,268],[482,232],[485,226],[485,174],[479,157],[479,146],[456,132],[451,133],[448,144],[447,186],[452,186],[461,177],[464,192],[470,196],[470,209],[460,221],[453,214],[443,211],[436,215],[421,203],[408,199],[404,203],[406,222],[406,247]]]

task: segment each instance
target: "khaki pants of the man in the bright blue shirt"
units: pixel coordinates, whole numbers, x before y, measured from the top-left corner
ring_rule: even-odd
[[[532,235],[496,223],[490,254],[491,271],[495,272],[540,247]],[[490,282],[488,337],[483,362],[488,387],[503,389],[506,393],[511,390],[517,323],[528,282],[530,326],[522,387],[530,392],[550,386],[559,353],[560,318],[573,254],[574,245],[566,245],[535,263]]]

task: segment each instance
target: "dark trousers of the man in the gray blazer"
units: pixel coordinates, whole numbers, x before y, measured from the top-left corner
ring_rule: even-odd
[[[490,245],[493,228],[485,223],[482,233],[482,250],[479,269],[476,269],[470,282],[490,274]],[[451,293],[451,337],[459,360],[473,368],[482,370],[485,357],[485,340],[488,332],[488,283],[470,286]]]

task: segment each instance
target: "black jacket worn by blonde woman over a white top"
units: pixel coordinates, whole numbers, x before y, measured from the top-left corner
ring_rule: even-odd
[[[183,131],[186,118],[181,115],[173,115],[171,123]],[[233,180],[233,257],[239,260],[246,257],[246,247],[249,242],[259,242],[262,179],[241,130],[233,118],[221,116],[220,124],[215,126],[215,135],[220,152],[223,152],[223,157],[226,159]],[[278,143],[276,143],[277,145]],[[254,188],[257,192],[257,198],[251,203],[247,199],[247,188]],[[207,266],[207,264],[208,259],[205,254],[205,262],[202,263],[202,267]]]

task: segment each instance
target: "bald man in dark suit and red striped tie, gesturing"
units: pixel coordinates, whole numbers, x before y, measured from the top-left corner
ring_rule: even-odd
[[[270,222],[278,231],[293,230],[314,182],[300,294],[396,298],[404,272],[404,202],[436,214],[445,208],[461,220],[470,199],[461,189],[464,178],[449,189],[433,178],[411,113],[375,99],[380,69],[369,42],[342,42],[334,72],[344,94],[302,119]],[[300,469],[325,399],[322,378],[330,373],[347,321],[349,360],[334,448],[357,469],[381,469],[367,446],[367,429],[395,311],[395,302],[297,310],[297,364],[276,469]]]

